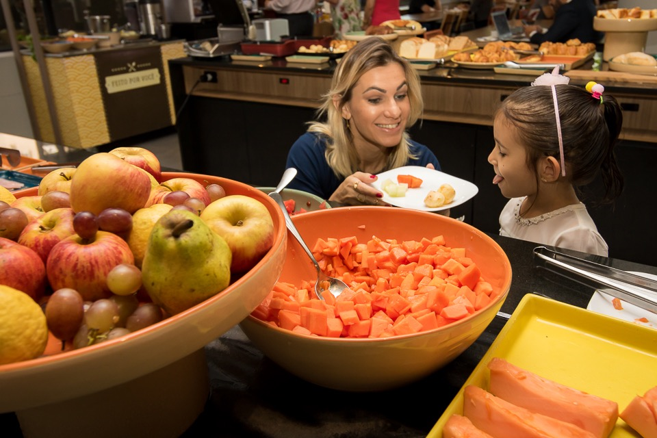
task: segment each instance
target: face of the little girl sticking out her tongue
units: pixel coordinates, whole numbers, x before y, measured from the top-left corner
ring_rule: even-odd
[[[527,166],[525,146],[519,143],[517,128],[500,114],[493,122],[495,147],[488,156],[497,184],[506,198],[529,196],[537,191],[536,172]]]

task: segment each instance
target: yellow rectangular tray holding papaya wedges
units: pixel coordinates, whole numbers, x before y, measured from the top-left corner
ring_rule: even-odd
[[[463,414],[463,388],[488,389],[493,357],[581,391],[608,398],[623,411],[657,385],[657,330],[528,294],[428,438],[441,438],[450,415]],[[610,438],[637,435],[620,418]]]

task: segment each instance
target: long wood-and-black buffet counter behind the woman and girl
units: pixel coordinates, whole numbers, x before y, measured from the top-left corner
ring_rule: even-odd
[[[657,78],[632,75],[639,76],[639,81],[626,81],[610,74],[606,81],[598,79],[607,71],[606,63],[601,72],[593,72],[591,63],[567,74],[573,75],[571,83],[582,87],[589,80],[600,81],[605,92],[621,103],[623,140],[617,157],[626,190],[615,206],[593,205],[586,199],[601,197],[602,183],[596,181],[585,188],[584,202],[612,257],[652,263],[654,254],[645,242],[657,240],[657,229],[652,226],[657,205],[645,199],[652,196],[649,188],[657,184],[649,167],[657,160],[657,125],[653,123]],[[283,57],[267,62],[231,61],[227,56],[171,60],[183,168],[259,187],[275,186],[289,147],[315,118],[336,65],[335,60],[292,64]],[[201,80],[208,72],[216,75],[216,82]],[[497,233],[506,199],[491,183],[493,168],[487,162],[494,144],[493,112],[505,96],[529,86],[536,74],[502,74],[455,64],[419,73],[424,117],[409,129],[411,137],[435,153],[444,172],[478,186],[478,196],[456,207],[452,216],[465,216],[478,229]],[[641,214],[634,213],[636,205],[642,206]]]

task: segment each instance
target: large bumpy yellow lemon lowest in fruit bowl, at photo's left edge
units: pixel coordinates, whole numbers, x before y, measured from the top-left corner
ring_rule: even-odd
[[[0,285],[0,365],[39,357],[47,342],[41,307],[25,292]]]

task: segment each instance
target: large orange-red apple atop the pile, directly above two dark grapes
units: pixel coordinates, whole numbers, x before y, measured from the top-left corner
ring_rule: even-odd
[[[99,214],[106,208],[123,208],[130,214],[146,205],[151,180],[142,169],[111,153],[99,152],[77,166],[70,184],[70,206]]]

